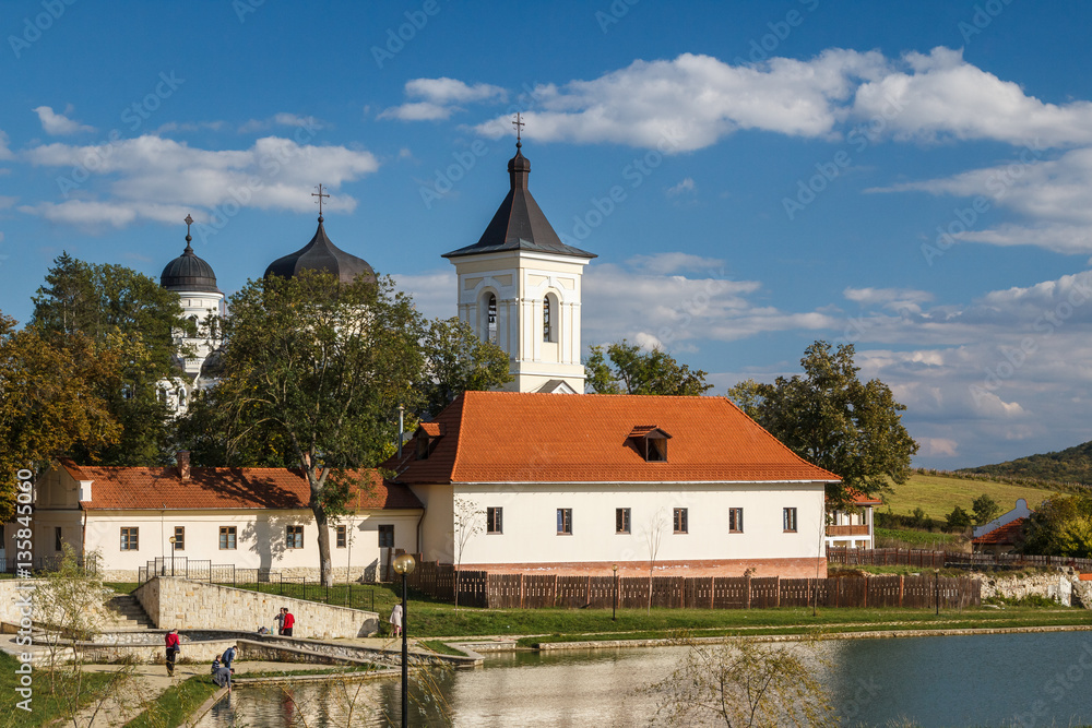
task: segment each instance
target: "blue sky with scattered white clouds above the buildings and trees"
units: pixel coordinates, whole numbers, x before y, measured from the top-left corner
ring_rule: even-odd
[[[852,342],[915,464],[1092,439],[1092,5],[4,3],[0,310],[56,255],[225,293],[310,239],[454,313],[440,254],[531,189],[600,256],[584,343],[723,393]],[[612,200],[612,195],[614,200]]]

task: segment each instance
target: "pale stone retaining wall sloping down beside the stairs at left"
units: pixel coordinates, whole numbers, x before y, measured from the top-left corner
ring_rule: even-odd
[[[257,631],[271,626],[281,607],[296,618],[293,636],[330,640],[363,637],[379,629],[373,611],[237,589],[219,584],[156,576],[133,592],[152,622],[161,629],[216,630],[226,626]]]

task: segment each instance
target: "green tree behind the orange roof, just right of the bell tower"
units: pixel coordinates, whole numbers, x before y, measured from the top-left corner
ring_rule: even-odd
[[[698,396],[713,387],[705,383],[704,372],[691,371],[663,349],[642,351],[641,347],[621,342],[591,347],[584,360],[587,385],[596,394],[665,394]]]

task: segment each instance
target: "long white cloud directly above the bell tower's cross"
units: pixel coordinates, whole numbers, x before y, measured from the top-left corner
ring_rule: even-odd
[[[664,152],[700,150],[740,129],[791,136],[834,135],[860,79],[878,77],[876,51],[829,49],[808,61],[773,58],[731,65],[711,56],[638,60],[592,81],[538,86],[543,110],[529,111],[524,133],[542,141],[616,142]],[[478,124],[507,133],[508,118]]]

